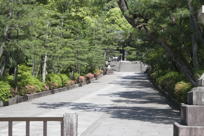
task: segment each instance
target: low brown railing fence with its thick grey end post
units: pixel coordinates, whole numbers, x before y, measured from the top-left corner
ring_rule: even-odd
[[[47,136],[47,122],[61,122],[61,136],[77,136],[77,114],[64,114],[63,117],[0,117],[0,122],[8,122],[8,136],[13,136],[13,122],[26,122],[26,136],[30,134],[30,122],[43,122],[43,136]]]

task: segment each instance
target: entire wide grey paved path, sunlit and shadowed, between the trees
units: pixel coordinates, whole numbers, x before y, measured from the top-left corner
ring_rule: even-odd
[[[0,108],[0,116],[12,117],[62,116],[65,112],[79,115],[79,136],[172,136],[172,123],[179,119],[147,76],[135,72],[115,72],[81,88]],[[14,136],[24,135],[19,129],[24,125],[15,125]],[[32,136],[42,135],[42,124],[31,125]],[[4,136],[6,124],[0,128]],[[48,124],[48,136],[57,136],[58,131],[59,124]]]

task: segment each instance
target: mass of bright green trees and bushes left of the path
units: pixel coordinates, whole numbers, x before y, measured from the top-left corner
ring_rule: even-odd
[[[1,79],[21,95],[48,89],[39,80],[45,73],[53,89],[69,81],[60,73],[74,73],[70,78],[77,80],[101,69],[132,31],[115,0],[1,0],[0,5]]]

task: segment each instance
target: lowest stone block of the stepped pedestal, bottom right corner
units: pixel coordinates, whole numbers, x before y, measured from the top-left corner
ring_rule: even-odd
[[[204,126],[185,126],[174,124],[174,136],[203,136]]]

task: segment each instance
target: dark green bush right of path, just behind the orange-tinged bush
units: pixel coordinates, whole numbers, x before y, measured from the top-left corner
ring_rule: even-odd
[[[174,94],[175,84],[183,79],[178,72],[168,72],[156,79],[156,83],[167,90],[170,94]]]

